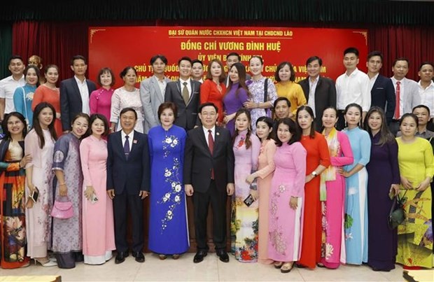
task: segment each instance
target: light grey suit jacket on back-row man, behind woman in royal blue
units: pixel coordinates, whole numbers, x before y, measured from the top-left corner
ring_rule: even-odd
[[[169,83],[172,80],[165,78],[165,81]],[[160,125],[158,107],[165,101],[165,93],[161,92],[158,79],[155,76],[146,78],[140,83],[140,99],[145,113],[144,132],[147,134],[149,129]]]

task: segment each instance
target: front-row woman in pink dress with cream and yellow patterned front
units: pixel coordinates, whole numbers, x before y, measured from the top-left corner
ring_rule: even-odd
[[[323,111],[323,135],[328,143],[331,165],[321,174],[320,190],[325,201],[321,201],[322,229],[321,263],[318,267],[335,269],[345,263],[345,248],[341,250],[344,237],[345,178],[337,169],[353,163],[353,151],[348,136],[336,130],[337,111],[334,107]]]

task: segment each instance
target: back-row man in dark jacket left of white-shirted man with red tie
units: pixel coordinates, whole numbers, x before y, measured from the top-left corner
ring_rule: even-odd
[[[367,55],[367,76],[370,79],[371,107],[378,106],[386,114],[387,125],[392,121],[395,113],[395,88],[390,78],[379,74],[383,66],[383,54],[380,51],[372,51]]]

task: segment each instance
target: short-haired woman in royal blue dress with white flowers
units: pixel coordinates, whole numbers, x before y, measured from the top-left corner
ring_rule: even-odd
[[[183,188],[186,131],[174,125],[176,105],[165,102],[158,108],[161,125],[148,132],[151,156],[151,199],[148,248],[160,260],[175,260],[190,247]]]

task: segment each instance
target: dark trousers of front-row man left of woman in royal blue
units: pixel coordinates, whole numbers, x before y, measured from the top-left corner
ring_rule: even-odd
[[[113,198],[113,213],[115,216],[116,251],[127,252],[127,211],[130,209],[132,223],[132,251],[141,252],[144,248],[143,201],[137,195],[122,194]]]

